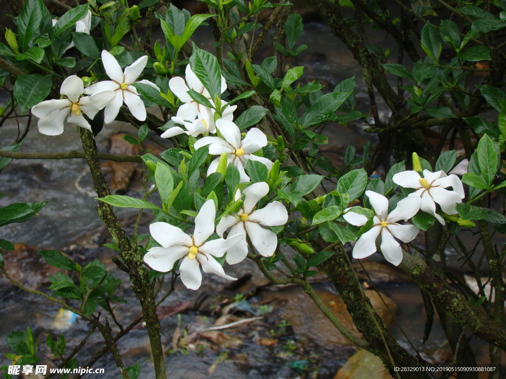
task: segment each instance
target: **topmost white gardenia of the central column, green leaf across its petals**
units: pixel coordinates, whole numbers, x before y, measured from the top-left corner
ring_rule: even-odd
[[[190,95],[187,93],[190,89],[193,89],[195,92],[198,92],[200,94],[203,94],[211,104],[214,104],[214,99],[211,99],[209,92],[207,89],[205,89],[202,82],[197,78],[197,75],[193,73],[193,71],[190,68],[190,65],[186,66],[186,83],[185,80],[180,77],[176,76],[173,77],[168,82],[168,86],[171,88],[171,91],[181,100],[183,104],[181,107],[179,107],[178,112],[176,114],[176,117],[179,117],[182,120],[187,120],[192,122],[195,119],[202,120],[204,119],[209,127],[209,131],[214,131],[214,114],[215,110],[206,106],[203,106],[201,104],[198,104],[195,100],[193,100]],[[187,85],[188,83],[188,85]],[[225,82],[225,78],[221,77],[221,93],[225,92],[227,89],[227,83]],[[227,104],[222,100],[222,108]],[[237,108],[236,105],[234,106],[228,106],[225,108],[225,111],[223,112],[222,118],[226,120],[233,120],[232,112]],[[176,122],[176,120],[174,120]],[[177,122],[180,123],[180,122]],[[185,125],[186,126],[186,125]],[[170,129],[169,129],[170,130]],[[182,131],[183,133],[184,131]],[[181,134],[181,133],[178,133]],[[173,134],[176,135],[176,134]]]

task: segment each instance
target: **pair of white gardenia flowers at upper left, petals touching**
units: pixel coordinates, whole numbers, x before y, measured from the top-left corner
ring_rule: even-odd
[[[88,29],[89,30],[89,29]],[[60,88],[64,99],[47,100],[33,106],[33,115],[39,118],[38,130],[47,135],[63,133],[63,124],[67,122],[92,130],[90,123],[82,116],[86,114],[93,120],[101,109],[105,108],[104,121],[114,121],[123,103],[129,108],[132,115],[140,121],[146,119],[146,107],[139,97],[133,83],[145,83],[159,90],[148,80],[139,80],[148,57],[143,56],[121,70],[116,59],[107,51],[102,51],[102,64],[111,80],[100,81],[84,88],[82,80],[75,75],[66,78]],[[90,96],[82,96],[82,94]]]

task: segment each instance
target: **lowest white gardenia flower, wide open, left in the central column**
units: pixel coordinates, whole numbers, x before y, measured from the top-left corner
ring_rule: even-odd
[[[202,281],[200,265],[204,272],[236,280],[225,274],[223,267],[213,257],[223,257],[227,250],[240,241],[240,236],[205,242],[215,231],[215,217],[215,203],[213,200],[207,200],[195,217],[195,231],[192,236],[166,222],[152,223],[149,225],[149,231],[161,247],[149,249],[144,256],[144,262],[156,271],[166,272],[172,270],[176,261],[183,258],[179,266],[181,280],[190,290],[197,290],[200,287]]]

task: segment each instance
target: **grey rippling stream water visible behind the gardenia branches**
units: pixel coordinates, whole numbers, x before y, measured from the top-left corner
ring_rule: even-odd
[[[212,41],[208,39],[211,33],[205,28],[199,29],[195,40],[201,48],[212,49]],[[390,49],[393,44],[388,39],[385,40],[381,33],[371,33],[370,43],[384,45]],[[330,89],[341,80],[356,75],[357,83],[357,103],[359,109],[363,112],[366,109],[367,98],[366,90],[362,80],[360,67],[356,64],[353,57],[349,54],[345,46],[330,33],[328,28],[319,23],[305,24],[304,32],[300,43],[308,45],[308,49],[301,55],[301,58],[294,60],[294,65],[304,65],[307,80],[321,79],[322,83]],[[267,54],[267,53],[266,53]],[[379,103],[379,111],[384,112],[386,108]],[[21,122],[24,119],[21,119]],[[73,126],[66,126],[63,134],[55,137],[49,137],[40,134],[36,130],[36,123],[31,125],[30,132],[20,148],[20,152],[63,152],[71,150],[82,150],[78,135]],[[97,137],[97,144],[100,151],[108,151],[108,139],[110,136],[119,132],[130,132],[137,134],[135,128],[122,123],[115,123],[104,130]],[[346,146],[349,143],[361,144],[368,138],[360,127],[349,126],[348,128],[335,125],[329,125],[325,130],[329,137],[329,145]],[[17,124],[15,120],[7,122],[1,130],[3,146],[12,143],[17,135]],[[74,259],[94,259],[99,258],[104,261],[111,272],[123,279],[119,292],[129,300],[128,305],[120,305],[117,308],[119,321],[124,320],[128,324],[131,320],[140,314],[136,299],[132,296],[128,277],[121,271],[115,269],[110,261],[110,250],[99,248],[103,243],[103,238],[98,238],[97,233],[90,233],[90,230],[99,230],[101,221],[95,211],[96,200],[94,200],[91,177],[86,173],[87,165],[82,159],[74,160],[20,160],[13,161],[2,170],[0,176],[0,192],[4,193],[4,198],[0,205],[6,206],[13,202],[40,202],[48,200],[48,205],[40,212],[40,215],[22,224],[11,224],[0,228],[0,238],[7,239],[13,243],[24,243],[28,246],[35,246],[36,249],[64,249],[69,254],[74,254]],[[83,174],[85,172],[85,174]],[[136,194],[131,194],[135,196]],[[137,194],[138,195],[138,194]],[[117,209],[117,214],[121,219],[136,213],[132,210]],[[146,230],[146,226],[143,226]],[[73,244],[72,249],[68,249]],[[80,246],[76,248],[76,246]],[[83,246],[83,247],[82,247]],[[6,262],[8,265],[9,262]],[[241,277],[246,273],[254,273],[251,281],[261,281],[262,276],[258,273],[251,262],[243,262],[235,266],[227,267],[226,271],[235,277]],[[224,281],[215,275],[204,275],[204,282],[199,292],[209,291],[215,293],[223,287]],[[194,298],[195,293],[186,290],[181,283],[177,282],[177,291],[163,303],[164,305],[177,305]],[[437,349],[444,345],[444,335],[442,334],[439,323],[435,322],[433,334],[429,345],[421,344],[423,328],[425,322],[425,312],[423,303],[419,295],[419,290],[411,282],[392,281],[380,285],[380,290],[391,297],[395,303],[410,304],[407,309],[401,308],[397,316],[399,324],[404,333],[409,337],[412,343],[421,350]],[[274,289],[274,291],[281,291]],[[325,290],[331,293],[331,290]],[[256,301],[261,301],[262,296]],[[292,295],[280,292],[280,297],[287,299]],[[333,294],[335,296],[335,294]],[[41,302],[40,298],[25,294],[20,291],[8,291],[8,294],[0,298],[0,352],[8,352],[6,345],[6,336],[11,330],[26,330],[27,326],[35,330],[39,337],[40,349],[44,351],[44,340],[48,333],[62,333],[59,331],[65,329],[65,336],[69,340],[69,347],[75,344],[85,336],[89,329],[86,322],[77,319],[73,322],[64,321],[57,318],[58,308],[53,304]],[[323,357],[319,360],[320,376],[333,377],[336,370],[341,367],[348,356],[353,353],[349,347],[331,348],[322,347],[317,342],[312,345],[309,343],[303,353],[287,352],[286,349],[277,345],[269,347],[255,341],[268,338],[265,335],[266,330],[272,324],[278,324],[281,319],[276,320],[277,313],[271,316],[267,315],[266,324],[252,324],[251,328],[242,328],[239,333],[242,339],[242,347],[239,350],[230,348],[228,355],[224,356],[223,350],[209,348],[199,351],[198,348],[176,349],[173,354],[167,355],[166,363],[171,378],[281,378],[297,377],[300,372],[297,365],[298,359],[304,356],[311,357],[316,354],[317,357]],[[269,318],[270,317],[270,318]],[[286,315],[279,315],[286,317]],[[60,320],[56,322],[56,320]],[[63,324],[63,326],[60,326]],[[171,316],[161,320],[162,340],[167,351],[173,348],[174,335],[177,330],[181,331],[179,326],[189,325],[188,330],[195,330],[195,327],[206,327],[212,325],[210,316],[202,316],[198,312],[182,313],[181,319]],[[267,325],[267,326],[266,326]],[[408,344],[406,337],[401,331],[401,327],[393,326],[395,336],[403,345]],[[308,336],[311,335],[312,325],[306,325]],[[241,334],[242,333],[242,334]],[[256,333],[256,334],[255,334]],[[298,332],[299,333],[299,332]],[[301,332],[302,333],[302,332]],[[271,336],[272,337],[272,336]],[[259,340],[260,339],[260,340]],[[289,344],[290,339],[294,339],[301,344],[300,335],[281,336],[279,341],[283,344]],[[101,347],[102,337],[94,333],[87,345],[79,355],[79,362],[86,362]],[[306,341],[306,340],[304,340]],[[176,340],[177,342],[177,340]],[[198,345],[198,344],[197,344]],[[205,345],[205,344],[204,344]],[[279,345],[279,344],[278,344]],[[280,345],[285,346],[285,345]],[[205,346],[204,346],[205,347]],[[142,377],[151,378],[153,376],[152,363],[149,360],[149,343],[145,330],[142,328],[134,329],[128,337],[119,343],[120,353],[125,356],[128,365],[141,361]],[[410,348],[409,348],[410,349]],[[289,349],[288,349],[289,350]],[[242,354],[242,355],[241,355]],[[288,354],[288,355],[287,355]],[[291,356],[289,354],[292,354]],[[290,358],[291,357],[291,358]],[[230,358],[230,359],[227,359]],[[233,359],[232,359],[233,358]],[[306,359],[306,358],[304,358]],[[304,360],[299,359],[299,360]],[[307,358],[310,361],[310,358]],[[291,362],[291,363],[290,363]],[[328,363],[328,362],[331,362]],[[6,359],[0,361],[1,364],[7,363]],[[215,369],[210,372],[209,369]],[[46,364],[46,363],[42,363]],[[99,360],[94,368],[105,368],[105,374],[101,375],[104,379],[118,377],[118,371],[110,356]],[[85,377],[96,377],[96,375],[85,375]]]

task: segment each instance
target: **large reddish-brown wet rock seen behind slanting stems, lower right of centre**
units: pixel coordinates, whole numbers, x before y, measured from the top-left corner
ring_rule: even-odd
[[[334,295],[328,291],[317,288],[315,288],[315,291],[343,325],[355,335],[359,335],[343,299],[339,295]],[[372,306],[379,316],[382,317],[385,324],[389,326],[393,321],[389,309],[395,314],[397,312],[395,303],[382,294],[385,303],[388,305],[388,309],[375,291],[365,290],[364,293],[370,299]],[[284,318],[293,329],[294,335],[298,338],[305,337],[314,340],[319,345],[351,345],[351,342],[339,333],[302,288],[293,286],[276,289],[266,295],[263,302],[267,301],[277,303],[280,312],[276,317],[279,317],[279,319]]]

